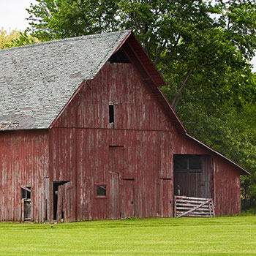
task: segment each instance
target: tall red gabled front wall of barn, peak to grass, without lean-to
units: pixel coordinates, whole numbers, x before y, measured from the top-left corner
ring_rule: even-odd
[[[52,180],[70,182],[72,219],[171,217],[173,129],[132,64],[105,64],[50,132]]]

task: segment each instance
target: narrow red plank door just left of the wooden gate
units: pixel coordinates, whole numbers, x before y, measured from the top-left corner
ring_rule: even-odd
[[[159,178],[158,189],[159,217],[172,217],[172,182],[170,178]]]

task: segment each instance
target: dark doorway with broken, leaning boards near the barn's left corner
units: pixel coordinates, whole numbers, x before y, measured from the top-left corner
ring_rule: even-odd
[[[53,183],[53,219],[59,222],[69,222],[71,218],[69,181]]]

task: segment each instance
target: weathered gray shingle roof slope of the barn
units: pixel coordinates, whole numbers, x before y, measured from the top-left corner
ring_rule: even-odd
[[[46,129],[129,31],[0,50],[0,130]]]

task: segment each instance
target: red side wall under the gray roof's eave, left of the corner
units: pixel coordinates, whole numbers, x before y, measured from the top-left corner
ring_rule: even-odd
[[[0,132],[0,221],[23,219],[21,186],[31,187],[31,220],[45,220],[48,134],[45,130]]]

